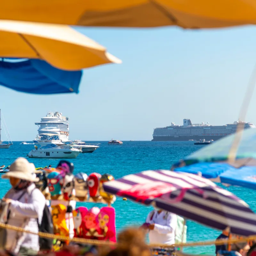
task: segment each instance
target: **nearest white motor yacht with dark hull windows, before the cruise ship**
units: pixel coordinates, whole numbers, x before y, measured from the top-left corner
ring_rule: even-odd
[[[41,145],[28,153],[28,157],[36,158],[76,158],[81,150],[68,145],[57,146],[55,144]]]

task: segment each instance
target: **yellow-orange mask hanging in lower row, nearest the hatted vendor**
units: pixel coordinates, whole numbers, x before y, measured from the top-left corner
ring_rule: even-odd
[[[57,204],[52,206],[52,224],[55,235],[69,236],[69,230],[66,224],[66,206]]]

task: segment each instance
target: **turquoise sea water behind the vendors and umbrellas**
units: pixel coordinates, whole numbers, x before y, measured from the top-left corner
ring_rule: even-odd
[[[177,141],[123,141],[123,145],[108,145],[107,141],[97,141],[100,148],[90,153],[81,153],[76,159],[70,159],[75,165],[76,172],[99,172],[100,174],[110,173],[116,179],[124,175],[141,172],[145,170],[166,169],[169,170],[171,165],[181,158],[196,151],[200,147],[195,146],[193,141],[177,142]],[[0,149],[0,166],[10,165],[17,157],[26,157],[28,152],[34,148],[34,145],[20,145],[21,142],[14,142],[9,149]],[[91,141],[88,141],[91,143]],[[60,159],[36,159],[28,158],[29,162],[35,164],[36,167],[44,167],[52,164],[56,167]],[[8,180],[0,179],[0,197],[4,196],[10,188]],[[230,187],[229,191],[248,203],[252,210],[256,211],[256,193],[255,190]],[[92,203],[78,203],[87,207],[96,206]],[[100,207],[99,204],[97,204]],[[116,209],[116,228],[117,232],[127,226],[141,225],[151,210],[132,201],[123,201],[117,198],[113,205]],[[204,241],[214,240],[220,231],[195,222],[188,221],[188,241]],[[214,246],[190,247],[184,252],[195,254],[214,254]]]

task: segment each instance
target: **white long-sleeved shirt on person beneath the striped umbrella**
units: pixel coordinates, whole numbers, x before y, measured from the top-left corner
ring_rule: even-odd
[[[149,212],[146,223],[155,224],[154,229],[149,230],[150,244],[175,244],[176,214],[165,211],[158,213],[154,210]]]

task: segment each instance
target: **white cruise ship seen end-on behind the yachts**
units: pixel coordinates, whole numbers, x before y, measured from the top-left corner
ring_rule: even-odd
[[[37,138],[33,140],[37,143],[39,140],[60,140],[68,141],[69,136],[69,117],[62,116],[59,112],[48,112],[45,117],[41,118],[41,122],[35,123],[39,129]]]

